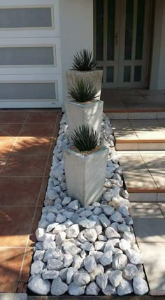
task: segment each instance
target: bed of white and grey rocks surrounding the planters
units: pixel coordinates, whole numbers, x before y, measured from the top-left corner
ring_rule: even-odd
[[[101,144],[109,148],[101,203],[82,208],[67,195],[62,148],[69,146],[66,115],[36,230],[29,290],[35,294],[115,295],[148,293],[143,259],[136,245],[129,194],[114,149],[110,121],[103,115]],[[99,170],[98,170],[99,171]]]

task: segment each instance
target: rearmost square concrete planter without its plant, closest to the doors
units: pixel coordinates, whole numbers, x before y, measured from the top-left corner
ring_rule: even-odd
[[[73,83],[75,83],[76,80],[78,80],[80,78],[91,80],[94,85],[94,88],[97,90],[96,100],[100,100],[102,77],[103,77],[102,70],[94,70],[94,71],[69,70],[69,71],[66,71],[66,82],[67,82],[68,88],[72,87]]]

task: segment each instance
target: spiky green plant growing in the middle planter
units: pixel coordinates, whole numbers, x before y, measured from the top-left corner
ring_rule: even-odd
[[[76,102],[92,101],[96,98],[97,90],[91,81],[82,78],[76,80],[69,88],[69,98]]]

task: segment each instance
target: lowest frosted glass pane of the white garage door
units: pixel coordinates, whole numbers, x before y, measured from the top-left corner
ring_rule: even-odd
[[[55,83],[0,83],[1,100],[55,99]]]

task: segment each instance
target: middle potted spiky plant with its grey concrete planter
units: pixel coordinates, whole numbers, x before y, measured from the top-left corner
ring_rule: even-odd
[[[100,135],[103,101],[96,99],[97,91],[92,81],[78,78],[69,88],[69,99],[65,102],[69,136],[76,127],[89,124]]]

